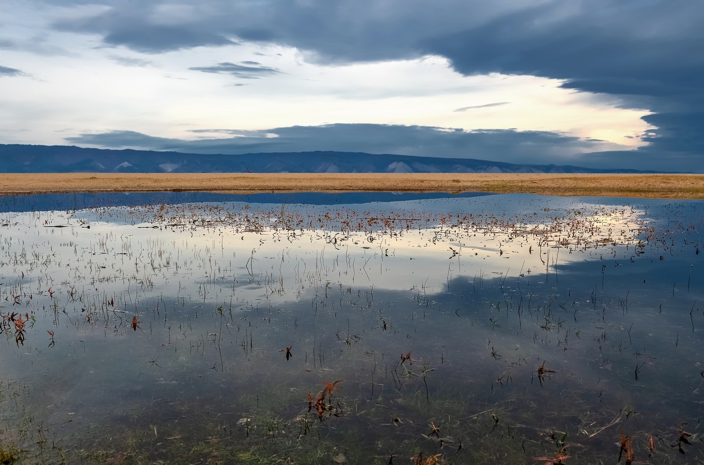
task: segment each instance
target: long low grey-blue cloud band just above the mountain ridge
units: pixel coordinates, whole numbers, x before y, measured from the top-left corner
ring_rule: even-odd
[[[481,129],[465,131],[427,126],[335,124],[245,131],[194,129],[196,134],[226,134],[222,139],[185,141],[130,131],[81,134],[70,144],[106,148],[144,148],[187,153],[258,153],[344,151],[398,155],[479,158],[510,163],[577,164],[578,151],[598,150],[601,141],[585,141],[554,132]]]

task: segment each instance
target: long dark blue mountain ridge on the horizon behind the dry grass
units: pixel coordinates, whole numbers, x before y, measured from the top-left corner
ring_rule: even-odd
[[[572,165],[503,163],[472,158],[435,158],[362,152],[287,152],[205,155],[110,150],[76,146],[0,144],[0,172],[306,172],[306,173],[648,173]]]

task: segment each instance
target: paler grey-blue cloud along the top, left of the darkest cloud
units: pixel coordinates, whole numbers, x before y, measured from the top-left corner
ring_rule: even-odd
[[[106,44],[151,53],[222,45],[239,37],[296,46],[323,61],[369,61],[420,56],[425,39],[541,1],[451,0],[429,6],[425,0],[201,0],[177,4],[190,10],[173,16],[175,4],[168,1],[98,0],[92,3],[110,8],[54,27],[101,34]]]

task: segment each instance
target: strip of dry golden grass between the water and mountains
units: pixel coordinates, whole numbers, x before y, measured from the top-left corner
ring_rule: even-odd
[[[704,198],[704,174],[0,174],[0,195],[66,192],[491,192]]]

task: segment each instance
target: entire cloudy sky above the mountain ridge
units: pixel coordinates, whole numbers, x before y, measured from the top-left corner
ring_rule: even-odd
[[[3,0],[0,144],[704,172],[704,4]]]

